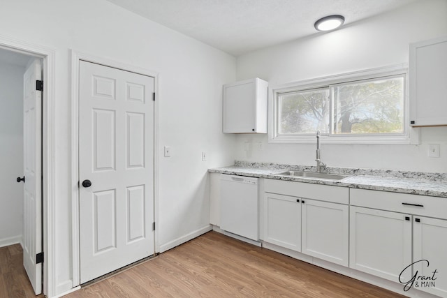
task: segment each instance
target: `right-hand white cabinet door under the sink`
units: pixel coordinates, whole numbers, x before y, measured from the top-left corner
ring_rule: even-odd
[[[302,253],[349,265],[349,206],[302,200]]]

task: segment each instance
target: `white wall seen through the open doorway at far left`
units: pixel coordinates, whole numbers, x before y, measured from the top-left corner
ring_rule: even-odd
[[[0,61],[0,246],[22,241],[24,71]]]

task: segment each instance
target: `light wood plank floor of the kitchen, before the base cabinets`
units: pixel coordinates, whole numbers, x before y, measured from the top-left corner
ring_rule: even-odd
[[[404,296],[208,232],[65,297]]]

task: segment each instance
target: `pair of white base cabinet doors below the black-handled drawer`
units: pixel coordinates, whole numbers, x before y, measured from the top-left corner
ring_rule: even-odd
[[[447,297],[446,220],[354,206],[350,212],[349,267]]]

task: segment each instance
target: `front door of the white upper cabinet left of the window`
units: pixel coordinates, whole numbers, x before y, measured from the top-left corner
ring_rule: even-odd
[[[223,86],[223,133],[254,133],[255,131],[255,80]]]

